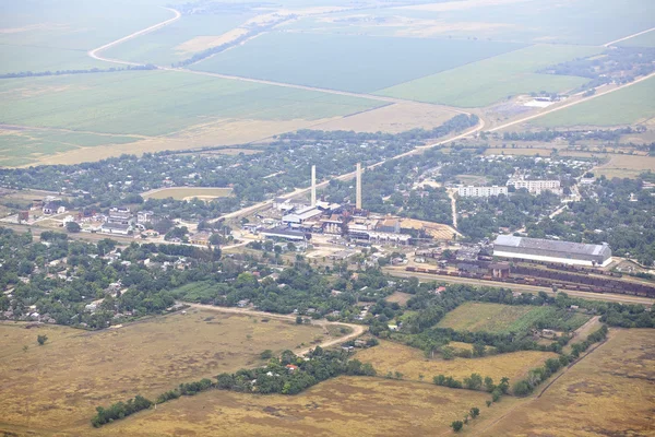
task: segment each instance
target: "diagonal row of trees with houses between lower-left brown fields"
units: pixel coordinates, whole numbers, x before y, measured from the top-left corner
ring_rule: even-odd
[[[216,381],[203,378],[199,381],[180,383],[176,389],[166,391],[156,398],[155,403],[164,403],[183,395],[194,395],[210,389],[233,390],[260,394],[297,394],[321,381],[340,375],[376,376],[370,364],[358,359],[348,359],[349,353],[343,350],[325,351],[317,346],[307,355],[308,359],[291,351],[284,351],[279,357],[272,357],[266,366],[254,369],[240,369],[234,374],[221,374]],[[112,421],[123,418],[154,403],[141,395],[127,403],[118,402],[108,409],[98,406],[97,414],[91,421],[99,427]]]

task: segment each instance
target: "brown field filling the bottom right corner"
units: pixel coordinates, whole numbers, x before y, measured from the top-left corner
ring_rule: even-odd
[[[653,436],[654,411],[653,330],[612,330],[607,343],[540,398],[532,398],[478,435]]]

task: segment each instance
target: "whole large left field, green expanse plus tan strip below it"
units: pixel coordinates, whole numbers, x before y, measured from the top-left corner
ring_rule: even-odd
[[[3,135],[2,145],[8,144],[0,146],[5,150],[0,153],[3,165],[48,160],[53,154],[63,157],[59,163],[74,163],[121,153],[255,141],[383,105],[166,71],[5,80],[0,81],[0,95],[4,102],[1,123],[26,131],[48,129],[34,135],[16,130]],[[75,132],[63,135],[52,130]],[[103,146],[98,144],[107,143],[107,137],[98,134],[118,138]],[[28,135],[37,140],[21,138]],[[134,138],[140,141],[132,143]],[[88,146],[94,146],[93,152]]]

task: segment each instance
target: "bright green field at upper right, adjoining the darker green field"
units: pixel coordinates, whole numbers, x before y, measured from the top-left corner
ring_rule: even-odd
[[[535,71],[599,51],[600,48],[584,46],[531,46],[406,82],[376,94],[460,107],[479,107],[522,93],[564,92],[588,80],[537,74]]]

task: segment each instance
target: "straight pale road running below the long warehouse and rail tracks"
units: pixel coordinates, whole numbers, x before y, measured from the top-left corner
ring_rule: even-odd
[[[404,268],[386,268],[384,269],[385,273],[391,274],[392,276],[397,277],[417,277],[419,281],[429,282],[429,281],[438,281],[445,282],[446,284],[467,284],[475,286],[491,286],[497,288],[509,288],[515,292],[527,292],[527,293],[538,293],[546,292],[547,294],[553,294],[552,290],[534,286],[534,285],[523,285],[523,284],[508,284],[508,283],[498,283],[496,281],[484,281],[484,280],[474,280],[468,277],[458,277],[458,276],[441,276],[434,275],[430,273],[417,273],[417,272],[407,272],[403,270]],[[655,299],[651,299],[647,297],[639,297],[631,295],[622,295],[622,294],[609,294],[609,293],[587,293],[587,292],[576,292],[571,290],[563,290],[562,293],[567,293],[572,297],[581,297],[583,299],[590,300],[607,300],[607,302],[619,302],[623,304],[642,304],[646,306],[652,306],[655,304]]]

